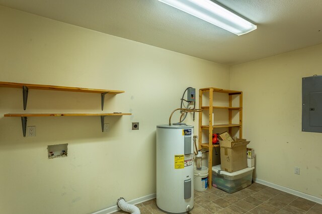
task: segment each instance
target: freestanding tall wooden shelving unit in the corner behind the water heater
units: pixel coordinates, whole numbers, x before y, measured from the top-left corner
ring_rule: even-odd
[[[209,92],[209,106],[204,106],[202,99],[203,99],[203,93]],[[226,93],[228,94],[228,106],[213,106],[213,94],[214,93]],[[232,106],[232,96],[237,95],[239,96],[239,106],[233,107]],[[233,91],[233,90],[225,90],[225,89],[219,89],[219,88],[202,88],[199,90],[199,108],[202,109],[208,109],[209,110],[209,121],[207,121],[207,125],[203,124],[202,121],[202,114],[204,112],[199,112],[199,139],[198,139],[198,145],[199,150],[202,148],[206,148],[209,150],[209,157],[208,157],[208,188],[211,188],[211,182],[212,182],[212,149],[214,147],[219,147],[218,144],[213,145],[212,144],[212,134],[213,130],[216,128],[227,128],[228,133],[231,135],[232,128],[238,128],[239,129],[239,138],[243,138],[243,92],[241,91]],[[228,124],[215,124],[213,125],[213,112],[214,109],[227,109],[228,110]],[[239,124],[233,124],[232,123],[232,111],[238,111],[239,112]],[[214,115],[214,120],[216,118],[216,115]],[[205,140],[202,139],[202,131],[208,130],[208,142],[203,143]]]

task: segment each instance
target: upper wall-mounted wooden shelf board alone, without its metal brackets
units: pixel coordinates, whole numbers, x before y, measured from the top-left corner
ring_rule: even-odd
[[[124,93],[124,91],[117,91],[117,90],[90,89],[90,88],[77,88],[77,87],[65,87],[65,86],[52,86],[52,85],[37,85],[37,84],[25,84],[25,83],[0,82],[0,87],[23,88],[23,86],[27,86],[29,89],[52,90],[52,91],[72,91],[72,92],[108,93],[108,94]]]

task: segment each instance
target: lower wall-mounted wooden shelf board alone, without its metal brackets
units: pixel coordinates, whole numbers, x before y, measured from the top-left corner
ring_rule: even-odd
[[[59,117],[59,116],[122,116],[131,113],[37,113],[37,114],[5,114],[5,117]]]

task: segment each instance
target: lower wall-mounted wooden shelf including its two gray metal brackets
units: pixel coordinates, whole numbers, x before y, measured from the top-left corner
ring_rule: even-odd
[[[123,116],[123,115],[132,115],[131,113],[8,113],[5,114],[5,117],[21,117],[22,122],[22,132],[24,137],[26,137],[26,128],[27,128],[27,117],[61,117],[61,116],[101,116],[101,126],[102,132],[104,131],[104,118],[105,116]]]

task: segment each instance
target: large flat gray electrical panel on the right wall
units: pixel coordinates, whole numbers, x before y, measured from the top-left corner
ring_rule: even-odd
[[[302,131],[322,132],[322,76],[302,78]]]

